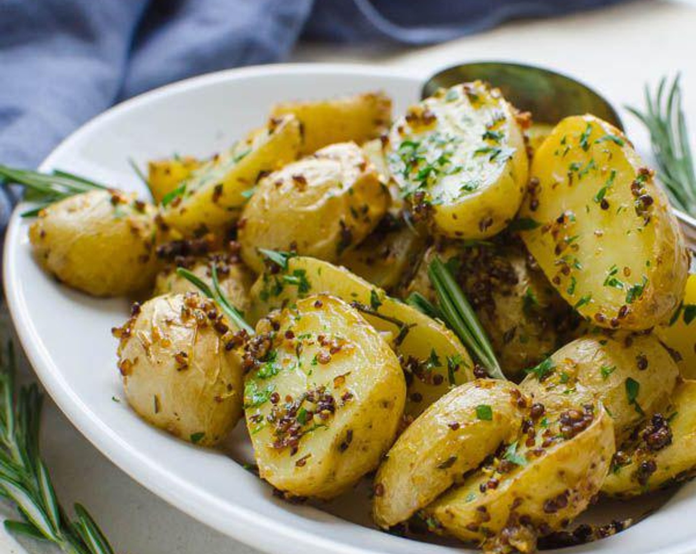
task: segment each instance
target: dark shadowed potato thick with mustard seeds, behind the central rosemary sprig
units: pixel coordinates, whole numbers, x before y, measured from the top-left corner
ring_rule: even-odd
[[[579,319],[530,258],[519,238],[493,242],[445,241],[430,247],[406,293],[434,302],[427,275],[435,256],[448,264],[486,331],[509,378],[535,366],[572,339]]]

